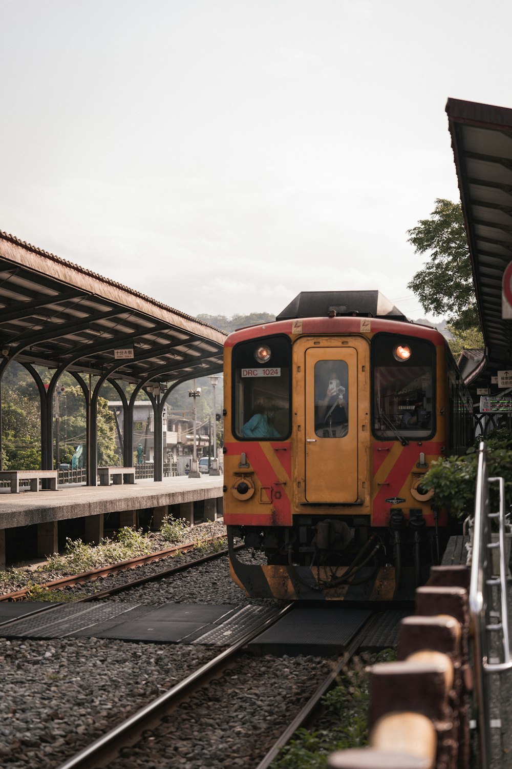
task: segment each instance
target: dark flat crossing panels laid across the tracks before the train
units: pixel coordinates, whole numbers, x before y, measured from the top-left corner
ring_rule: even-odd
[[[276,613],[275,607],[220,604],[143,606],[118,601],[94,604],[0,604],[2,638],[112,638],[167,644],[229,646]],[[388,609],[368,624],[363,649],[396,644],[398,625],[410,611]],[[372,616],[367,608],[296,606],[249,644],[256,654],[341,654]],[[15,621],[18,619],[18,621]]]

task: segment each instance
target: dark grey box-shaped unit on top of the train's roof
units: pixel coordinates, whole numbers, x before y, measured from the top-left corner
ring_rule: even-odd
[[[333,312],[335,315],[361,315],[365,318],[408,321],[380,291],[301,291],[288,307],[277,315],[276,321],[325,318]]]

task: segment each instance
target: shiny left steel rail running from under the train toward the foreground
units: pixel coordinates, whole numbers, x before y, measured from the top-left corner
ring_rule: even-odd
[[[137,711],[134,715],[118,724],[111,731],[99,737],[96,741],[85,747],[84,750],[74,755],[68,761],[64,761],[57,769],[92,769],[92,767],[106,766],[114,755],[127,745],[133,745],[140,739],[145,729],[158,722],[164,717],[166,712],[173,707],[177,698],[183,695],[187,689],[197,687],[203,684],[208,677],[214,674],[216,668],[220,667],[224,661],[239,652],[246,644],[253,641],[266,628],[269,628],[278,621],[284,614],[287,614],[293,607],[293,604],[287,604],[284,608],[276,611],[273,617],[267,619],[258,628],[247,632],[243,638],[236,641],[236,644],[225,649],[210,662],[202,665],[197,671],[194,671],[179,684],[176,684],[164,694],[160,694],[156,700]]]

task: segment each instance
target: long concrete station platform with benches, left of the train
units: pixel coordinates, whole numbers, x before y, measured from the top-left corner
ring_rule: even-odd
[[[0,569],[9,561],[6,531],[17,527],[37,528],[37,554],[40,557],[58,551],[58,524],[84,518],[84,541],[98,544],[103,538],[104,518],[118,513],[120,526],[137,525],[139,511],[150,511],[154,526],[171,513],[193,525],[197,508],[203,520],[222,516],[222,476],[201,478],[144,478],[135,484],[84,486],[63,484],[56,491],[20,491],[0,489]]]

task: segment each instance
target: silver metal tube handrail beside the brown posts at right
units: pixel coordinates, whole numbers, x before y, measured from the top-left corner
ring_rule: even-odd
[[[491,513],[489,487],[499,487],[499,510]],[[477,483],[474,497],[474,533],[471,554],[471,580],[469,589],[469,611],[474,628],[474,690],[477,704],[480,761],[482,767],[489,766],[491,756],[491,697],[489,673],[500,673],[512,667],[508,632],[507,568],[505,562],[505,484],[503,478],[489,478],[485,444],[478,451]],[[497,520],[499,538],[492,541],[491,521]],[[499,575],[493,575],[493,549],[499,548]],[[492,590],[500,591],[500,615],[491,611]],[[500,621],[494,620],[499,617]],[[503,660],[489,661],[491,634],[501,631]]]

